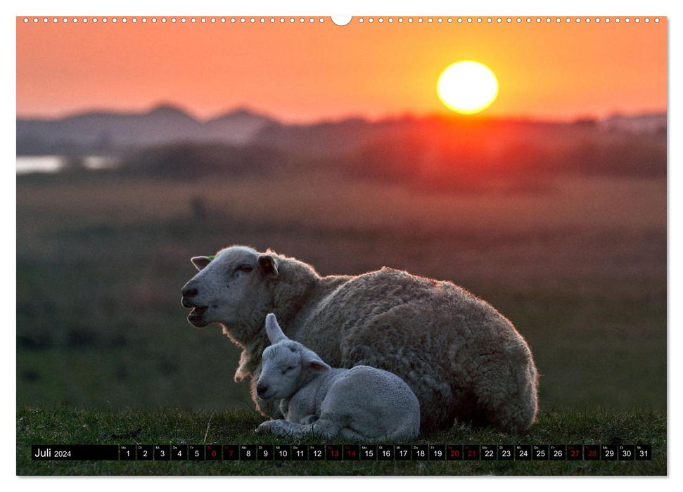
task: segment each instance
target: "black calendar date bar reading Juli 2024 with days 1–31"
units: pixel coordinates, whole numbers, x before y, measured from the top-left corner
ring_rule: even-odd
[[[650,444],[33,444],[34,461],[642,461]],[[455,464],[454,464],[455,465]]]

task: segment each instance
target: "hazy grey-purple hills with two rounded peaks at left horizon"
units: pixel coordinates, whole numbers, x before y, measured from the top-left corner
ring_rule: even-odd
[[[248,110],[201,121],[172,105],[148,112],[84,112],[60,119],[17,118],[17,153],[109,152],[178,141],[248,143],[276,122]]]

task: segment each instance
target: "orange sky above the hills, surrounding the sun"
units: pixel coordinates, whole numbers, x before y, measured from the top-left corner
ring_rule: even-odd
[[[329,18],[295,25],[18,18],[17,112],[174,103],[203,118],[245,106],[289,122],[446,113],[435,84],[463,59],[498,77],[499,97],[485,115],[567,119],[666,109],[665,18],[549,25],[424,19],[338,27]]]

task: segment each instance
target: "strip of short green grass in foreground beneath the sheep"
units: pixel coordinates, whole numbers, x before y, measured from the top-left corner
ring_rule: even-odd
[[[350,444],[255,434],[255,412],[21,408],[18,475],[665,475],[666,415],[605,410],[546,411],[525,434],[454,425],[398,444],[651,444],[651,461],[148,462],[32,461],[32,444]],[[132,438],[118,436],[135,434]]]

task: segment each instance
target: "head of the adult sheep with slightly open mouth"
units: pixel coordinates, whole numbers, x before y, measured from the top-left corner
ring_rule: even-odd
[[[199,273],[184,285],[181,301],[192,308],[187,317],[191,325],[203,328],[210,323],[241,323],[254,309],[267,309],[272,299],[269,280],[278,276],[273,254],[232,246],[215,257],[194,257],[191,261]]]

